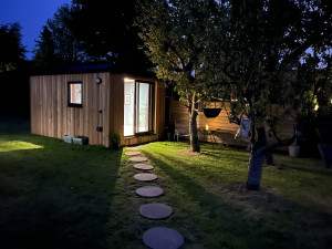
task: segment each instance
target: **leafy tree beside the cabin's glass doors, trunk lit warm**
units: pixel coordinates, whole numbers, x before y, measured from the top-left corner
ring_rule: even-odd
[[[206,96],[201,58],[216,10],[216,4],[205,1],[145,1],[137,20],[145,52],[157,65],[157,77],[175,82],[175,90],[188,107],[193,152],[200,152],[195,105]]]

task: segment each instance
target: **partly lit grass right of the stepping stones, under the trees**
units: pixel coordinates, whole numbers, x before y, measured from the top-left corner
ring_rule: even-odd
[[[249,154],[186,144],[154,143],[144,149],[163,176],[167,203],[205,248],[330,248],[331,170],[320,159],[276,155],[286,166],[266,167],[261,191],[247,191]],[[188,236],[189,237],[189,236]]]

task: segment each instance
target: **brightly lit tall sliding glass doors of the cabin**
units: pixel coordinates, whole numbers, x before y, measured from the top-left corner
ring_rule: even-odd
[[[153,132],[154,84],[125,80],[124,136]]]

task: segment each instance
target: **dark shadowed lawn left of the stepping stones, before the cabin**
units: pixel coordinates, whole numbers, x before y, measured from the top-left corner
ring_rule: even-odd
[[[122,149],[28,134],[0,138],[43,145],[0,153],[0,247],[107,248]]]

